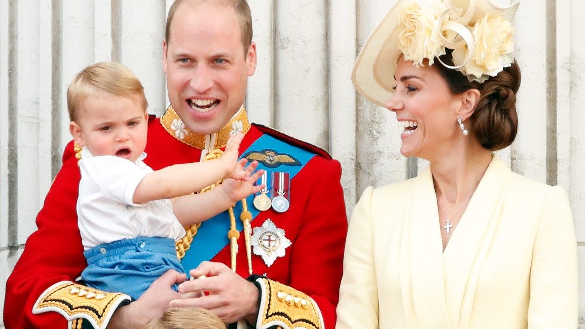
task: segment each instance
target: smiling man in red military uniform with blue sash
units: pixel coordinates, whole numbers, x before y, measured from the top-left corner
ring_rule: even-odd
[[[170,9],[163,68],[171,107],[150,119],[144,162],[156,170],[203,160],[230,133],[242,132],[242,157],[271,172],[271,189],[254,202],[257,208],[249,198],[188,228],[178,242],[185,269],[207,278],[184,282],[180,293],[186,294],[179,294],[171,286],[184,276],[167,272],[127,306],[126,295],[75,283],[86,263],[75,215],[80,173],[70,144],[37,216],[38,230],[6,284],[6,328],[142,328],[181,306],[211,310],[226,324],[335,326],[347,231],[341,169],[315,146],[249,124],[242,104],[256,68],[251,38],[243,0],[178,0]],[[250,218],[251,228],[243,230]],[[257,276],[243,279],[252,272]]]

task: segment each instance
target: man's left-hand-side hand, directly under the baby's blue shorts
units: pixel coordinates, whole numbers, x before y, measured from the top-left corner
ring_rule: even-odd
[[[170,308],[168,303],[181,296],[173,290],[173,285],[184,282],[186,279],[187,275],[178,273],[176,270],[168,270],[154,281],[137,301],[118,309],[113,314],[108,329],[142,329],[150,320],[163,316],[164,311]]]

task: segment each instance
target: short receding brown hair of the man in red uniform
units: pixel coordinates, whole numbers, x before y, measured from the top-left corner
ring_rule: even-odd
[[[248,47],[252,43],[252,14],[250,13],[250,6],[246,0],[175,0],[171,8],[168,10],[168,18],[167,18],[167,26],[164,32],[164,38],[167,44],[171,40],[171,23],[173,22],[173,18],[175,16],[175,12],[177,8],[183,4],[183,2],[188,2],[192,5],[197,5],[201,2],[205,1],[215,1],[218,4],[231,6],[233,10],[236,12],[236,16],[238,16],[238,23],[240,26],[240,39],[242,40],[242,44],[244,46],[244,56],[248,52]]]

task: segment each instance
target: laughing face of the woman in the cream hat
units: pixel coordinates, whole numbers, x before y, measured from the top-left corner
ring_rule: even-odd
[[[435,68],[415,67],[402,56],[397,61],[394,94],[386,108],[396,114],[403,128],[400,153],[433,159],[452,149],[459,133],[457,111],[462,107],[463,95],[453,95],[443,77]]]

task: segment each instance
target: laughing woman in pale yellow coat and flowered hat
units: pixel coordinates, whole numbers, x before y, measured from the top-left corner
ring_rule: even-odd
[[[356,205],[337,328],[574,329],[567,194],[492,153],[517,132],[517,4],[453,3],[399,0],[356,61],[357,91],[404,127],[402,155],[430,165]]]

